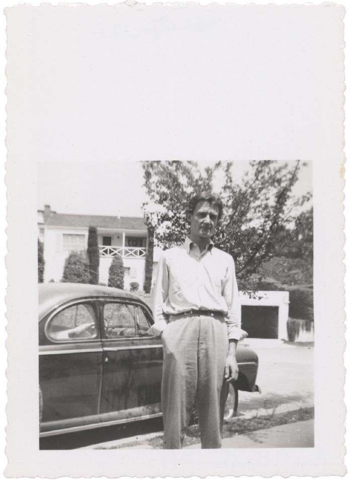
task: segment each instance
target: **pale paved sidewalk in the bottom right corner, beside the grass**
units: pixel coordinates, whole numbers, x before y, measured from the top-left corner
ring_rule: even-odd
[[[244,435],[224,438],[222,448],[293,448],[314,447],[314,420],[290,423]],[[201,448],[200,444],[186,448]]]

